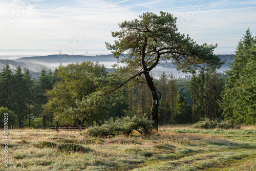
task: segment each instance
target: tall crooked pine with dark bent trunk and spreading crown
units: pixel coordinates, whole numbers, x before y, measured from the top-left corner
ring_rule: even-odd
[[[120,62],[126,63],[128,70],[137,70],[137,74],[124,81],[144,74],[152,96],[151,119],[154,127],[158,125],[158,105],[161,98],[150,75],[160,61],[171,60],[178,70],[190,72],[197,68],[220,68],[221,59],[214,55],[217,45],[198,45],[188,35],[178,32],[177,18],[172,14],[160,12],[160,15],[146,12],[130,22],[119,24],[120,31],[112,32],[118,38],[115,44],[106,42]],[[123,83],[123,84],[124,84]],[[121,84],[119,87],[121,87]]]

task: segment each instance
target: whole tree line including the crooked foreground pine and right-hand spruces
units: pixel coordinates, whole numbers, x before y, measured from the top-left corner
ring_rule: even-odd
[[[212,45],[198,45],[177,32],[176,19],[160,12],[143,13],[141,20],[123,22],[115,45],[106,43],[119,62],[107,72],[98,62],[42,69],[31,79],[28,69],[12,72],[7,64],[0,74],[1,110],[17,117],[13,127],[44,127],[51,124],[101,125],[109,118],[142,116],[158,124],[194,123],[203,119],[232,118],[237,123],[255,120],[255,42],[246,31],[239,41],[226,77],[216,72],[224,63]],[[123,55],[127,52],[127,55]],[[150,74],[159,61],[172,60],[177,69],[193,76],[177,79]],[[201,69],[195,74],[196,69]],[[225,78],[225,80],[224,80]],[[1,113],[2,114],[2,113]],[[15,118],[15,117],[14,117]]]

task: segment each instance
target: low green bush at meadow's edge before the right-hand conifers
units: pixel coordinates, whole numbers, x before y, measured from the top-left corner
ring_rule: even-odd
[[[234,125],[234,122],[234,119],[222,120],[220,122],[217,120],[205,119],[204,121],[195,123],[192,127],[197,129],[240,129],[241,125]]]

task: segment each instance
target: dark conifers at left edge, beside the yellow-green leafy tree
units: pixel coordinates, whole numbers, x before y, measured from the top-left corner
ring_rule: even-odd
[[[48,102],[45,92],[52,89],[55,74],[42,69],[38,79],[33,79],[26,68],[17,67],[11,71],[9,64],[0,73],[0,106],[10,114],[9,125],[15,128],[46,127],[46,117],[42,115],[42,105]],[[9,111],[9,112],[8,112]],[[51,121],[53,118],[50,118]],[[1,122],[2,126],[2,122]]]

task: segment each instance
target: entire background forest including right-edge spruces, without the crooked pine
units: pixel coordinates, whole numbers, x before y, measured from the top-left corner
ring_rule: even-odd
[[[225,74],[201,70],[184,78],[162,73],[154,79],[162,94],[159,124],[196,123],[206,118],[255,124],[255,42],[248,29]],[[84,61],[59,66],[54,72],[44,68],[32,79],[28,69],[17,67],[12,72],[7,63],[0,74],[1,114],[8,111],[9,124],[20,129],[100,125],[111,117],[141,117],[144,113],[150,117],[151,95],[142,77],[115,93],[102,94],[123,80],[123,69],[107,72],[98,62]]]

